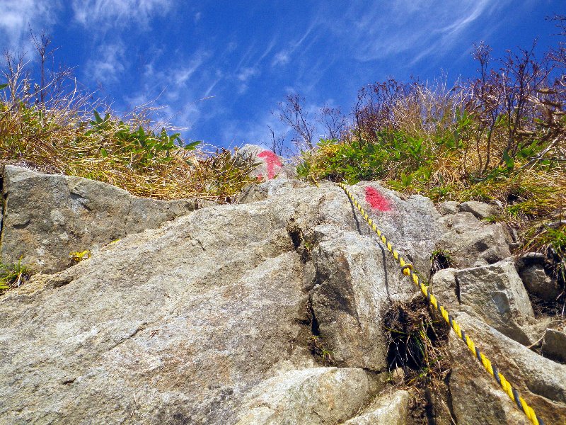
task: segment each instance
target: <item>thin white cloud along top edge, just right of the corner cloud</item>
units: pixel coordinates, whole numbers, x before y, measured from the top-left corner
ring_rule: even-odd
[[[111,26],[120,21],[146,24],[156,15],[163,15],[172,6],[172,0],[73,0],[74,18],[84,26],[98,24]]]

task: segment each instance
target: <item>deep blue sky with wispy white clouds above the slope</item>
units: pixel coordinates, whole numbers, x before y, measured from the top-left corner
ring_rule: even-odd
[[[0,0],[0,50],[31,51],[29,27],[55,61],[126,111],[147,101],[187,140],[260,143],[286,128],[272,111],[296,92],[306,111],[346,113],[364,84],[392,76],[448,83],[475,73],[473,43],[555,46],[546,16],[564,0],[181,1]],[[28,55],[32,59],[33,55]]]

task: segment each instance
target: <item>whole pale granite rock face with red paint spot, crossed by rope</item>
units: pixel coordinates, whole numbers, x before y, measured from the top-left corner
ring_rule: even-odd
[[[332,183],[277,178],[250,186],[241,204],[168,215],[174,204],[143,204],[115,188],[97,186],[91,198],[97,192],[81,189],[83,181],[15,175],[4,180],[3,256],[18,258],[28,240],[54,244],[64,232],[65,256],[87,240],[100,248],[0,296],[0,356],[9,359],[0,362],[0,390],[10,395],[0,398],[1,423],[410,424],[410,409],[422,406],[415,392],[391,386],[383,322],[393,306],[410,308],[422,295]],[[37,194],[15,202],[15,187]],[[499,259],[509,253],[504,229],[470,212],[441,215],[427,198],[376,183],[351,190],[423,280],[435,249],[455,249],[454,268],[433,276],[439,301],[502,372],[521,377],[521,395],[547,423],[563,416],[566,366],[514,341],[530,342],[526,324],[536,319],[514,266]],[[35,225],[36,204],[64,206],[68,217],[54,214],[54,222],[50,213]],[[100,242],[111,222],[120,241]],[[450,397],[437,397],[438,417],[521,423],[461,341],[449,345]]]

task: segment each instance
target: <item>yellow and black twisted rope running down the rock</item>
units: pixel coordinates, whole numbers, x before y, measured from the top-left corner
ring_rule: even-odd
[[[515,402],[519,410],[521,410],[521,412],[524,412],[524,414],[526,414],[526,416],[531,420],[533,424],[544,425],[543,420],[536,415],[533,408],[526,403],[523,397],[519,396],[519,392],[517,392],[514,389],[514,387],[512,387],[512,385],[503,376],[503,374],[500,373],[499,370],[497,370],[497,367],[493,365],[487,357],[484,356],[484,354],[480,351],[478,347],[475,346],[472,339],[466,334],[465,331],[463,331],[463,329],[461,329],[458,323],[456,323],[456,320],[451,316],[451,314],[449,314],[446,311],[444,306],[440,304],[440,302],[437,300],[437,297],[432,295],[429,288],[420,281],[417,274],[413,271],[412,264],[406,263],[403,257],[400,256],[398,251],[396,251],[391,245],[391,243],[388,242],[385,235],[381,233],[381,230],[377,228],[376,224],[367,215],[367,212],[364,210],[364,208],[362,208],[362,205],[359,205],[359,202],[356,200],[356,198],[354,198],[354,194],[345,186],[345,184],[337,183],[337,185],[340,186],[340,188],[342,188],[342,190],[345,191],[346,195],[348,196],[348,198],[350,198],[350,200],[352,200],[352,203],[354,203],[356,208],[359,210],[360,214],[362,214],[362,217],[364,217],[364,220],[369,225],[369,227],[371,227],[371,229],[374,232],[376,232],[377,236],[381,239],[381,242],[383,242],[383,244],[387,246],[388,251],[391,252],[391,254],[393,254],[395,260],[398,261],[398,263],[400,264],[401,271],[403,271],[403,274],[412,279],[412,283],[414,283],[415,286],[417,286],[417,288],[421,290],[424,296],[427,297],[429,304],[432,305],[434,309],[440,312],[441,316],[444,318],[446,323],[448,323],[450,327],[454,329],[454,332],[456,332],[458,338],[460,338],[462,341],[466,343],[466,346],[468,346],[470,353],[472,353],[473,356],[478,358],[478,360],[482,363],[485,370],[487,370],[487,372],[489,372],[490,375],[492,375],[492,377],[495,378],[495,380],[502,387],[504,392],[506,392],[509,398]]]

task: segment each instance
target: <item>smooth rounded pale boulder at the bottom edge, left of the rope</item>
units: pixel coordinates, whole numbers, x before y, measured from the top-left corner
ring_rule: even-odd
[[[369,401],[371,380],[357,368],[292,370],[255,387],[237,424],[338,424]]]

